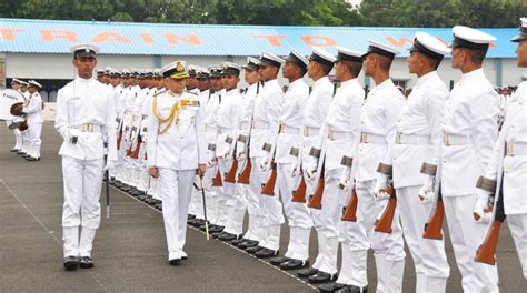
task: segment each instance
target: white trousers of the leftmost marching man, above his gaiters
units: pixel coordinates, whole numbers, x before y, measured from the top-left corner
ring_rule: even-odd
[[[64,186],[62,226],[99,228],[102,168],[103,159],[87,161],[62,156]]]

